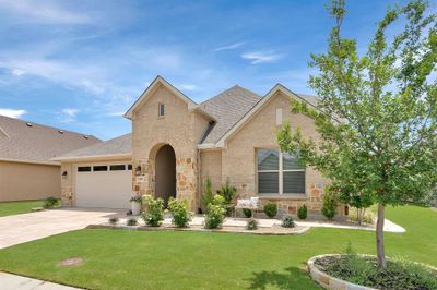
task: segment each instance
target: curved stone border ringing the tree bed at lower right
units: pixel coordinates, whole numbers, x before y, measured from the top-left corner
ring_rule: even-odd
[[[319,255],[311,257],[307,262],[307,270],[309,275],[311,276],[312,280],[317,281],[321,287],[331,290],[376,290],[375,288],[369,288],[362,285],[341,280],[339,278],[328,275],[324,271],[319,270],[315,265],[315,261],[326,256],[340,256],[340,255],[339,254]]]

